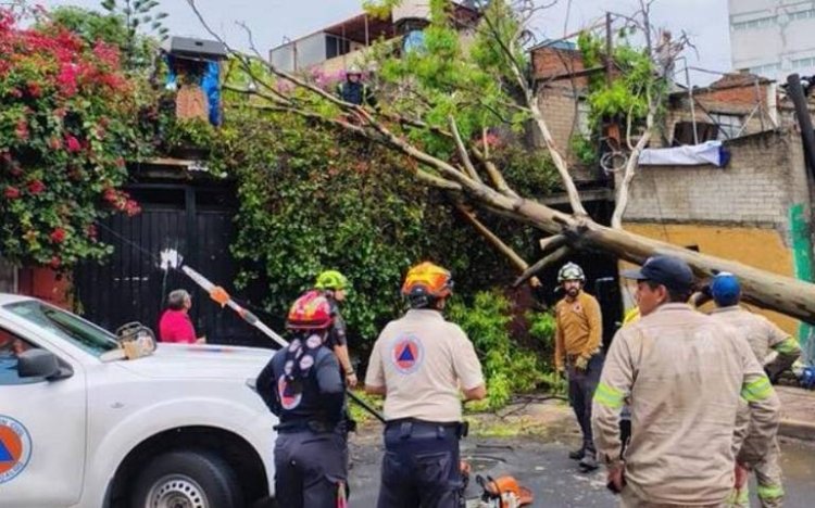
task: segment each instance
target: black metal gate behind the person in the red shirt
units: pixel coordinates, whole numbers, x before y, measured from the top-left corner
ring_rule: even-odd
[[[229,254],[235,236],[233,191],[190,185],[139,185],[128,191],[142,212],[103,223],[99,237],[115,251],[104,264],[77,269],[79,312],[112,331],[129,321],[156,330],[167,293],[186,289],[192,295],[190,316],[199,336],[206,335],[211,343],[266,345],[268,340],[212,302],[183,272],[161,267],[162,252],[177,252],[185,265],[235,294],[238,269]]]

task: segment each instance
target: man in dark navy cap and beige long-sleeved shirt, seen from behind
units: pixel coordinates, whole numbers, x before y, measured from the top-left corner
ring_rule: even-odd
[[[609,486],[622,492],[624,507],[720,507],[741,486],[735,471],[769,449],[778,397],[745,339],[686,303],[693,274],[684,261],[654,256],[623,276],[637,281],[642,317],[615,334],[594,394]],[[617,423],[627,394],[632,435],[623,457]],[[752,430],[737,455],[740,397]]]

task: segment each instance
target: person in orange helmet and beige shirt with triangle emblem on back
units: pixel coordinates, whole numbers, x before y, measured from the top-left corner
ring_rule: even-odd
[[[365,391],[385,395],[387,420],[379,508],[459,508],[462,501],[461,394],[477,401],[487,389],[473,343],[441,315],[452,289],[444,268],[411,268],[402,285],[411,308],[385,327],[371,353]]]

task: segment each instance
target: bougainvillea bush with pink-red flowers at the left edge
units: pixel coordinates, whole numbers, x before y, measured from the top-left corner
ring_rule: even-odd
[[[139,211],[118,189],[137,111],[118,51],[0,10],[0,255],[54,268],[104,256],[95,223]]]

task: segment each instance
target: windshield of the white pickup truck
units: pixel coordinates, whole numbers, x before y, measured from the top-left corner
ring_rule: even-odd
[[[91,355],[101,356],[120,347],[116,338],[106,330],[42,302],[20,302],[5,305],[4,308]]]

